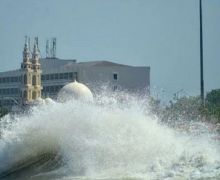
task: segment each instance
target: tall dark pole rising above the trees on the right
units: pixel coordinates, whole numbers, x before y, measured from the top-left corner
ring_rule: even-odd
[[[202,106],[205,106],[204,99],[204,77],[203,77],[203,31],[202,31],[202,0],[199,0],[200,17],[200,97]]]

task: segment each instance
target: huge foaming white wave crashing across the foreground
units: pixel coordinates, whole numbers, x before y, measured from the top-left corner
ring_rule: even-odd
[[[216,134],[185,126],[161,123],[128,94],[47,99],[1,119],[0,179],[220,179]]]

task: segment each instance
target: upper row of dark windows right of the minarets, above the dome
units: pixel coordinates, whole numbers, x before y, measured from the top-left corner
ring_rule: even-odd
[[[41,76],[42,81],[58,80],[58,79],[78,79],[77,72],[45,74]]]

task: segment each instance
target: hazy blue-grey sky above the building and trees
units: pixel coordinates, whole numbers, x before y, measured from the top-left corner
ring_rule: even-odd
[[[220,0],[203,0],[203,21],[207,92],[220,88]],[[43,57],[56,37],[59,58],[150,66],[159,96],[200,93],[199,0],[0,0],[0,71],[19,68],[25,35]]]

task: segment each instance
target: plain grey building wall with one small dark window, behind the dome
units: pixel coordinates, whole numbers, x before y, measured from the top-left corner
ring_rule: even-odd
[[[114,79],[114,74],[116,74],[117,79]],[[108,85],[112,90],[116,88],[129,92],[147,92],[150,86],[150,68],[130,66],[84,67],[79,71],[79,80],[92,89],[96,88],[96,90],[99,90],[98,86]]]

